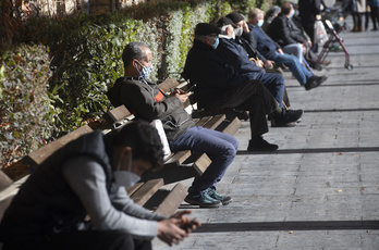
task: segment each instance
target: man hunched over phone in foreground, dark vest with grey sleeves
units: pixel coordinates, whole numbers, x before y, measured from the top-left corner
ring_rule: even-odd
[[[184,216],[191,211],[166,218],[125,191],[162,163],[157,129],[146,122],[80,137],[21,186],[1,222],[3,249],[151,249],[155,236],[178,243],[199,225]]]

